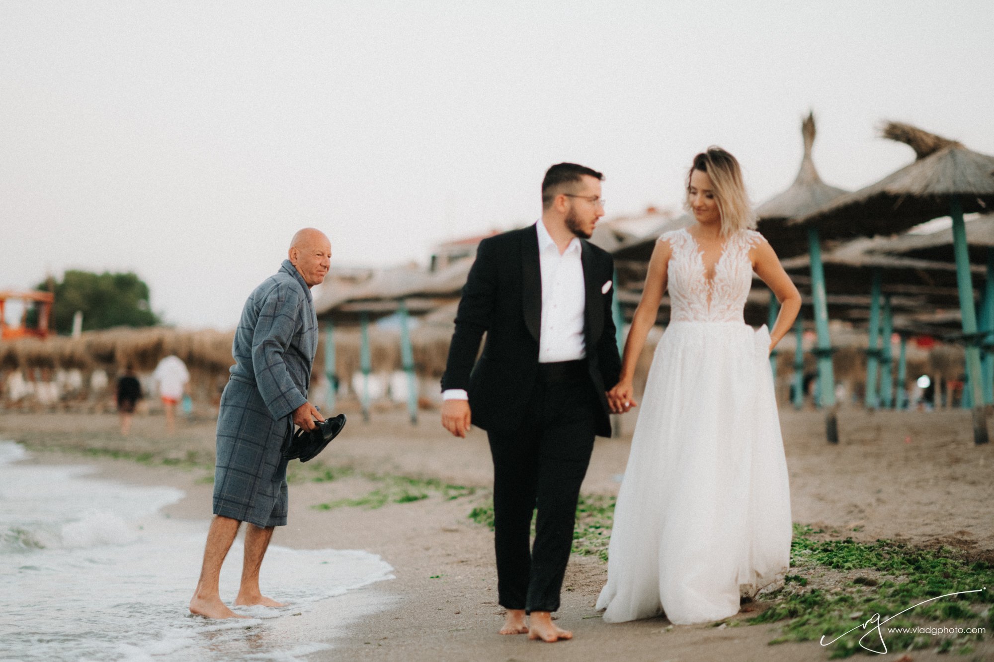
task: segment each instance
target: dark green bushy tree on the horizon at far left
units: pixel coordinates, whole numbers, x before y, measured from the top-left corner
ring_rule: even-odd
[[[38,289],[49,291],[49,283]],[[148,285],[130,271],[66,271],[62,282],[55,283],[55,294],[52,328],[57,333],[72,333],[77,310],[83,311],[83,331],[159,323],[148,304]]]

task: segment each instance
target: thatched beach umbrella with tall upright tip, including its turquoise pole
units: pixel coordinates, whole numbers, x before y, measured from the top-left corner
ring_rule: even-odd
[[[756,216],[759,218],[759,232],[778,255],[787,257],[807,250],[812,256],[812,295],[815,330],[818,334],[818,344],[815,349],[818,357],[818,385],[821,405],[826,410],[825,432],[828,440],[835,443],[839,440],[839,434],[834,407],[835,377],[832,371],[832,341],[828,333],[828,303],[825,298],[824,273],[819,260],[821,243],[817,230],[798,228],[790,222],[823,209],[846,192],[821,181],[814,167],[811,158],[815,137],[814,113],[809,112],[801,122],[801,135],[804,139],[804,155],[801,157],[801,167],[794,183],[783,193],[759,205],[756,208]],[[772,292],[770,292],[769,307],[769,318],[773,320],[778,306]]]

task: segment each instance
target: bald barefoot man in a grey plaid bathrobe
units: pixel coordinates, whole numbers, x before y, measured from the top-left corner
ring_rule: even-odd
[[[293,425],[324,420],[307,402],[317,351],[317,316],[310,288],[331,267],[331,244],[318,230],[293,236],[279,271],[255,288],[242,309],[232,354],[235,365],[218,413],[214,520],[190,611],[208,618],[244,618],[218,592],[221,566],[248,522],[242,584],[235,604],[283,606],[262,595],[258,569],[274,527],[286,524],[283,450]]]

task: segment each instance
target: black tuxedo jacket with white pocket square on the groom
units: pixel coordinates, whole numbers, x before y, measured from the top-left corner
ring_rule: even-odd
[[[611,318],[614,288],[603,292],[602,287],[613,277],[614,262],[606,250],[583,240],[580,248],[586,291],[583,338],[590,381],[600,403],[596,433],[610,436],[604,391],[617,383],[621,359]],[[473,424],[510,431],[521,423],[538,373],[541,322],[542,275],[535,226],[480,242],[462,288],[441,378],[442,390],[464,389],[469,394]],[[487,340],[477,361],[484,332]]]

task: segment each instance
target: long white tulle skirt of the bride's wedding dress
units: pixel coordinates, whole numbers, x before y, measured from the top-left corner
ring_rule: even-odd
[[[653,357],[597,608],[620,622],[738,613],[790,562],[790,490],[769,333],[675,322]]]

